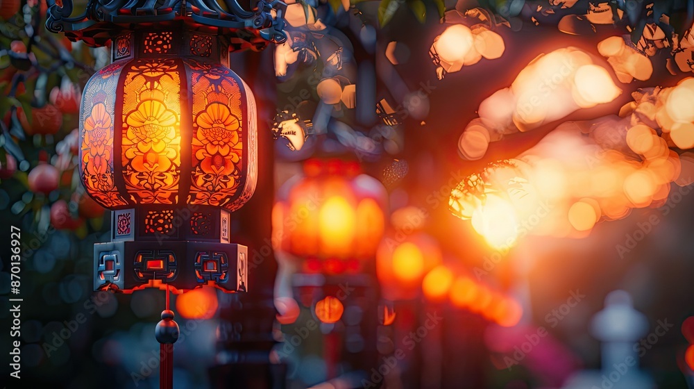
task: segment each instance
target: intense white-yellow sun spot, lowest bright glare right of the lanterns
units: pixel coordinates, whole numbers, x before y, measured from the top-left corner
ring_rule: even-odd
[[[484,206],[473,212],[472,224],[475,231],[484,236],[492,247],[511,246],[516,242],[516,210],[509,201],[501,197],[487,195]]]

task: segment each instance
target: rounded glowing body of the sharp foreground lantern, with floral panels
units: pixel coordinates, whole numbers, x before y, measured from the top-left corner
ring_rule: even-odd
[[[130,44],[140,52],[135,38]],[[117,60],[85,86],[81,174],[87,193],[110,209],[196,204],[237,210],[255,191],[255,115],[248,85],[212,59]]]

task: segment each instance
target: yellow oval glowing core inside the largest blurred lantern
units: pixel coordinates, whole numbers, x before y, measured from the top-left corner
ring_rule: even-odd
[[[341,254],[350,249],[355,235],[356,215],[341,196],[325,201],[319,213],[319,235],[325,254]]]

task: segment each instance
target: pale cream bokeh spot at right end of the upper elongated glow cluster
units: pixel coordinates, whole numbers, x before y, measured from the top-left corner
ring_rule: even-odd
[[[582,108],[590,108],[597,104],[609,103],[622,92],[614,85],[612,78],[604,67],[598,65],[583,65],[576,71],[574,78],[575,91],[579,99],[577,103]]]

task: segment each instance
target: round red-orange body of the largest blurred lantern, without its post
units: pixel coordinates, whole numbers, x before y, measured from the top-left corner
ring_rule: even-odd
[[[305,176],[280,190],[273,235],[283,251],[305,258],[307,272],[356,272],[373,258],[387,209],[377,179],[356,163],[310,160]]]

